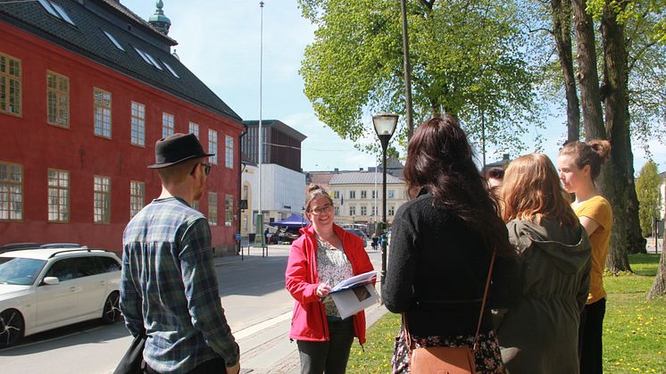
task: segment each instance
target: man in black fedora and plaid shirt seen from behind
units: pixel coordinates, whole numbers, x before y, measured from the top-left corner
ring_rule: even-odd
[[[121,311],[134,337],[146,334],[147,373],[240,370],[238,345],[221,306],[211,229],[191,207],[204,194],[213,154],[193,134],[155,143],[162,194],[122,237]]]

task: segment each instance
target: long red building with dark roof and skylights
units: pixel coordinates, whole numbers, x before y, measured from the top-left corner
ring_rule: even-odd
[[[114,0],[0,1],[0,245],[120,252],[161,191],[154,142],[194,132],[217,154],[196,207],[233,250],[242,120],[171,54],[169,26]]]

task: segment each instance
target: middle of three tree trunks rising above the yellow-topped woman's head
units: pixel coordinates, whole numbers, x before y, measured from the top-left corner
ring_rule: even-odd
[[[606,130],[601,108],[599,74],[596,70],[595,25],[592,22],[592,16],[587,14],[586,8],[586,0],[571,0],[573,20],[576,26],[583,128],[587,140],[605,139]]]

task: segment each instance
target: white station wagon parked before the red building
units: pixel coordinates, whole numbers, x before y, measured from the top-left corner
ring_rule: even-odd
[[[83,320],[121,320],[121,261],[103,249],[0,253],[0,348]]]

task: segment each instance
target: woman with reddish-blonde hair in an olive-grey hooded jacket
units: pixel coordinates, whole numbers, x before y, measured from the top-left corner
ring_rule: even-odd
[[[520,256],[520,301],[497,329],[512,373],[578,373],[579,315],[591,245],[544,154],[514,160],[504,175],[503,218]]]

